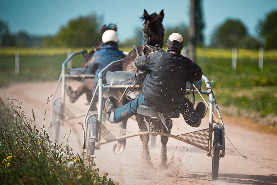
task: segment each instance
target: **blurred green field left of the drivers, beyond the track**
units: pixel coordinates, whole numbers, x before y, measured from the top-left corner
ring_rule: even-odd
[[[80,67],[83,57],[72,60],[72,67]],[[58,80],[66,55],[31,55],[19,57],[19,74],[15,74],[15,57],[0,55],[0,87],[20,82]]]

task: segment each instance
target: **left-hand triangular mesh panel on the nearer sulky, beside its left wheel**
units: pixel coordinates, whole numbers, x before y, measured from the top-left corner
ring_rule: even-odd
[[[110,141],[120,136],[126,136],[129,134],[133,134],[133,132],[122,129],[116,125],[102,122],[101,124],[101,134],[100,134],[100,142]]]

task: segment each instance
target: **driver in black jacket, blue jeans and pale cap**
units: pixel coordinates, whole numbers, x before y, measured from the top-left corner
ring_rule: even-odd
[[[143,82],[142,94],[118,108],[114,97],[108,98],[105,109],[111,123],[135,115],[139,105],[148,105],[159,112],[179,109],[189,125],[200,125],[205,114],[205,104],[200,102],[194,109],[185,94],[186,83],[201,80],[203,72],[192,60],[180,55],[183,41],[182,35],[173,33],[167,40],[167,52],[155,51],[140,56],[135,61],[138,69],[148,72]]]

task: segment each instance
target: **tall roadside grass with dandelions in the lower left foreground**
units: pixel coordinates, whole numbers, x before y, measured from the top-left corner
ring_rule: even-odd
[[[94,155],[73,153],[69,135],[52,143],[51,126],[37,129],[34,116],[26,118],[18,101],[8,101],[0,99],[0,184],[114,185],[108,174],[99,176]]]

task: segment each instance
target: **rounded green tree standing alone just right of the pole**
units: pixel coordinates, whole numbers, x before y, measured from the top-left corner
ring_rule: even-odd
[[[247,35],[247,29],[239,19],[227,19],[215,29],[211,37],[211,45],[213,47],[237,47]]]

